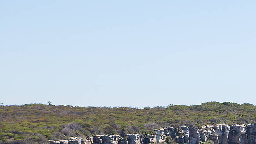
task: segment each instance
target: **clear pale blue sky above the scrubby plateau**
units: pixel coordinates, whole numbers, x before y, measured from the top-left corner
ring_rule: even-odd
[[[0,103],[256,104],[256,1],[0,1]]]

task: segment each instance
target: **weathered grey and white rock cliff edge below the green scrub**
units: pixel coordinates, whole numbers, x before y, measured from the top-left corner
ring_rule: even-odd
[[[256,124],[248,125],[206,125],[200,129],[186,126],[182,130],[173,127],[156,129],[155,135],[146,135],[140,138],[139,134],[120,135],[94,135],[90,138],[70,137],[69,140],[49,141],[51,144],[152,144],[162,143],[170,135],[179,144],[199,144],[212,140],[214,144],[256,144]]]

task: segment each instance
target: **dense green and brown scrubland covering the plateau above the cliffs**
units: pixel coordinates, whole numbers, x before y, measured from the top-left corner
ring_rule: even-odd
[[[43,104],[0,105],[1,143],[42,143],[69,136],[141,133],[157,128],[205,124],[248,124],[256,119],[256,106],[230,102],[168,107],[73,107]]]

